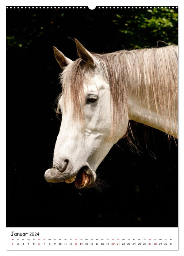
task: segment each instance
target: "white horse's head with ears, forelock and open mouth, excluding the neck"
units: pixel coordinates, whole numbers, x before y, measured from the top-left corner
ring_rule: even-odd
[[[126,133],[128,116],[124,117],[123,125],[116,129],[112,138],[109,84],[97,58],[76,39],[75,42],[80,57],[76,61],[54,47],[55,58],[64,67],[63,92],[59,100],[62,122],[54,149],[53,168],[46,171],[45,179],[67,183],[75,180],[76,187],[83,188],[93,187],[97,167],[113,144]]]

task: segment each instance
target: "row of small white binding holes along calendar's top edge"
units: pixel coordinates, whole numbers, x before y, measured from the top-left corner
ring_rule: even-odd
[[[6,8],[7,8],[7,9],[8,9],[8,8],[10,8],[10,9],[12,9],[12,8],[14,8],[14,9],[15,9],[15,8],[18,8],[18,9],[19,9],[19,8],[20,8],[20,9],[23,9],[23,8],[24,8],[24,9],[26,9],[26,8],[28,8],[28,9],[31,9],[31,8],[32,8],[32,9],[34,9],[34,8],[35,8],[35,9],[41,9],[41,8],[43,8],[43,9],[45,9],[45,8],[46,8],[46,9],[49,9],[49,8],[50,8],[50,9],[52,9],[52,8],[54,8],[54,9],[56,9],[56,8],[58,8],[58,9],[60,9],[60,8],[61,8],[61,9],[67,9],[67,8],[69,8],[69,9],[74,9],[74,8],[76,8],[76,9],[78,9],[78,8],[79,8],[79,9],[82,9],[82,8],[84,8],[84,9],[85,9],[86,7],[85,7],[85,6],[84,6],[84,7],[76,7],[76,6],[75,6],[75,7],[67,7],[67,6],[65,6],[65,7],[51,7],[51,6],[50,6],[50,7],[48,7],[48,6],[47,6],[47,7],[41,7],[41,6],[40,6],[40,7],[34,7],[34,6],[33,6],[33,7],[26,7],[26,6],[25,6],[25,7],[15,7],[15,6],[14,6],[14,7],[8,7],[8,6],[7,6]],[[100,9],[100,8],[102,8],[102,9],[104,9],[104,8],[106,8],[106,9],[107,9],[107,8],[110,8],[110,9],[111,9],[111,8],[112,8],[112,9],[115,9],[115,8],[117,8],[117,9],[118,9],[118,8],[120,8],[120,9],[122,9],[122,8],[124,8],[124,9],[126,9],[126,8],[128,8],[128,9],[130,9],[130,8],[132,8],[132,9],[134,9],[134,8],[135,8],[135,9],[137,9],[137,8],[139,8],[139,9],[141,9],[141,8],[142,8],[142,9],[144,9],[144,8],[146,8],[146,9],[148,9],[148,8],[150,8],[150,9],[152,9],[152,8],[153,8],[153,9],[156,9],[156,8],[157,8],[157,9],[159,9],[159,8],[163,9],[163,8],[165,8],[165,9],[166,9],[166,8],[169,8],[169,9],[170,9],[170,8],[172,8],[172,9],[174,9],[175,7],[170,7],[170,6],[169,6],[169,7],[144,7],[144,6],[139,6],[139,7],[133,7],[133,6],[132,6],[132,7],[126,7],[126,6],[125,6],[125,7],[110,7],[110,6],[106,6],[106,7],[98,7],[98,8],[99,8],[99,9]],[[177,6],[176,6],[176,9],[177,9]]]

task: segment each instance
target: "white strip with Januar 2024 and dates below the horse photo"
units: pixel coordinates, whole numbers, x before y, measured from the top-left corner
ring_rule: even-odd
[[[7,250],[177,250],[178,228],[7,228]]]

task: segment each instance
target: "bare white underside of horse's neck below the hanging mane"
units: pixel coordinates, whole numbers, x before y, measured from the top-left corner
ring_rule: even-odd
[[[170,119],[165,118],[158,114],[154,104],[148,106],[146,102],[142,103],[139,99],[135,100],[133,95],[130,95],[128,101],[129,120],[148,125],[177,138],[177,121],[173,113],[170,113]]]

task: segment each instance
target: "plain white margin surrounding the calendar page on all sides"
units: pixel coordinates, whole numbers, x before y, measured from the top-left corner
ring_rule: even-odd
[[[67,3],[66,3],[67,2]],[[0,218],[0,223],[1,223],[1,232],[0,232],[0,252],[3,252],[3,255],[10,255],[11,253],[13,253],[14,255],[32,255],[32,251],[5,251],[5,5],[72,5],[72,6],[82,6],[82,5],[104,5],[104,6],[110,6],[110,5],[114,5],[114,6],[120,6],[120,5],[127,5],[126,3],[122,3],[122,1],[100,1],[100,0],[89,0],[89,1],[84,1],[84,0],[79,0],[79,1],[35,1],[35,0],[27,0],[26,3],[25,1],[21,0],[21,1],[15,1],[15,0],[9,0],[9,1],[1,1],[0,3],[0,17],[1,17],[1,56],[3,56],[3,58],[1,57],[1,74],[3,74],[3,77],[1,76],[1,89],[0,89],[0,111],[1,111],[1,130],[0,130],[0,141],[1,141],[1,151],[0,151],[0,155],[1,155],[1,179],[3,180],[1,183],[1,207],[3,208],[3,210],[1,210],[1,218]],[[142,5],[142,6],[146,6],[148,4],[147,1],[129,1],[128,2],[129,5],[132,6],[136,6],[136,5]],[[152,4],[149,2],[149,5],[156,5],[156,6],[160,6],[160,5],[177,5],[179,6],[179,31],[182,28],[181,24],[184,24],[184,20],[183,17],[184,15],[182,14],[183,12],[183,2],[181,1],[152,1]],[[182,42],[183,42],[183,35],[180,33],[179,36],[179,82],[180,84],[183,84],[183,76],[182,72],[183,72],[183,67],[184,67],[184,63],[183,63],[183,49],[182,49]],[[180,47],[181,46],[181,47]],[[163,255],[163,253],[165,253],[165,255],[183,255],[184,253],[184,242],[182,240],[182,238],[184,237],[184,220],[183,220],[183,216],[184,216],[184,207],[183,207],[183,202],[182,202],[182,196],[184,194],[184,186],[183,186],[183,181],[184,181],[184,165],[183,165],[183,143],[184,143],[184,138],[182,135],[182,131],[183,131],[183,117],[182,117],[182,111],[184,106],[183,106],[183,98],[182,96],[184,95],[184,89],[180,86],[179,87],[179,251],[157,251],[157,255]],[[36,252],[35,252],[36,253]],[[61,251],[55,251],[55,254],[59,254],[61,255]],[[83,255],[86,254],[86,251],[75,251],[75,256],[76,255]],[[80,254],[79,254],[80,253]],[[103,252],[101,251],[100,253],[103,254]],[[118,255],[122,255],[122,252],[115,252]],[[125,253],[125,252],[123,252]],[[147,255],[149,253],[149,255],[153,254],[155,255],[155,251],[136,251],[136,255]],[[50,255],[50,251],[39,251],[39,255],[43,254],[45,255]],[[94,254],[93,251],[88,251],[88,255],[92,255]],[[126,255],[131,255],[132,251],[126,251]],[[71,255],[71,251],[65,251],[64,255]],[[111,251],[105,251],[104,255],[112,255]]]

